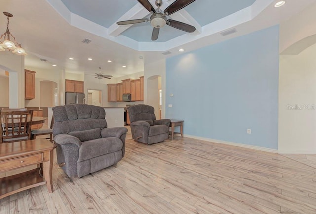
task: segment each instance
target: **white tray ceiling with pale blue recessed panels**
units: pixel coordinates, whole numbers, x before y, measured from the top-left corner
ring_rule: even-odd
[[[173,1],[163,0],[163,9]],[[150,2],[155,5],[154,0]],[[144,62],[180,54],[179,48],[187,52],[279,24],[316,0],[286,0],[283,7],[274,8],[276,2],[196,0],[169,17],[195,26],[194,33],[165,26],[159,34],[161,39],[153,42],[149,23],[116,24],[148,16],[137,0],[1,0],[0,33],[6,27],[2,12],[12,13],[10,31],[28,53],[26,68],[95,73],[102,67],[101,73],[119,77],[143,71]],[[232,28],[237,32],[220,34]],[[82,43],[85,38],[92,41]],[[167,51],[171,54],[162,54]],[[89,57],[93,60],[88,61]]]

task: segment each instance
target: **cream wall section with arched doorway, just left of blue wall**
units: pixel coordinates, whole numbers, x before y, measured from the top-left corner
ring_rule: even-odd
[[[159,91],[158,98],[156,97],[156,87],[159,87],[159,80],[157,78],[157,86],[155,76],[161,76],[161,90],[162,90],[162,108],[161,118],[165,118],[165,92],[166,92],[166,62],[165,59],[155,62],[145,61],[144,65],[144,103],[154,105],[156,118],[159,118]],[[154,85],[153,85],[154,84]],[[158,102],[158,107],[156,104]]]

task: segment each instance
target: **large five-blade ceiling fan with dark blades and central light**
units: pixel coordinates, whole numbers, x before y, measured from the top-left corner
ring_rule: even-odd
[[[132,19],[132,20],[126,20],[126,21],[120,21],[117,22],[118,25],[129,25],[129,24],[136,24],[136,23],[142,23],[142,22],[150,22],[151,25],[154,27],[152,32],[152,40],[155,41],[158,38],[159,30],[166,24],[174,27],[176,29],[192,33],[196,30],[196,28],[192,25],[179,22],[176,20],[168,19],[167,16],[171,15],[178,10],[181,10],[182,8],[188,6],[195,0],[176,0],[170,6],[168,6],[162,13],[160,10],[160,7],[162,6],[162,0],[156,0],[155,4],[158,6],[158,8],[155,10],[154,7],[151,5],[151,3],[148,0],[137,0],[143,7],[145,7],[150,13],[152,13],[151,17],[149,19]]]

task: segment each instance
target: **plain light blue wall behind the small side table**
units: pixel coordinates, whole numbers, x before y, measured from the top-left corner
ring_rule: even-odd
[[[168,58],[166,118],[187,135],[277,149],[278,47],[277,25]]]

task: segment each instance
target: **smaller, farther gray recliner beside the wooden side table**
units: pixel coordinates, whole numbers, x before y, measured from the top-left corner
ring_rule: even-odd
[[[128,107],[132,137],[142,143],[153,144],[169,138],[169,119],[156,120],[154,107],[138,104]]]

